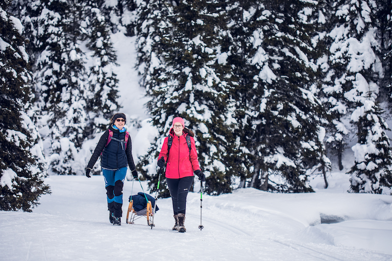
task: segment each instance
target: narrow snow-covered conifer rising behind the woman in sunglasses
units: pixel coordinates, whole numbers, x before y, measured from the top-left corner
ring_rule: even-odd
[[[86,9],[86,20],[82,23],[85,31],[83,39],[86,39],[86,46],[92,50],[88,57],[90,62],[87,66],[90,68],[85,90],[87,124],[83,137],[87,138],[106,129],[108,119],[119,108],[118,79],[114,72],[117,56],[110,40],[106,19],[94,6]],[[94,172],[99,171],[99,165],[96,165]]]

